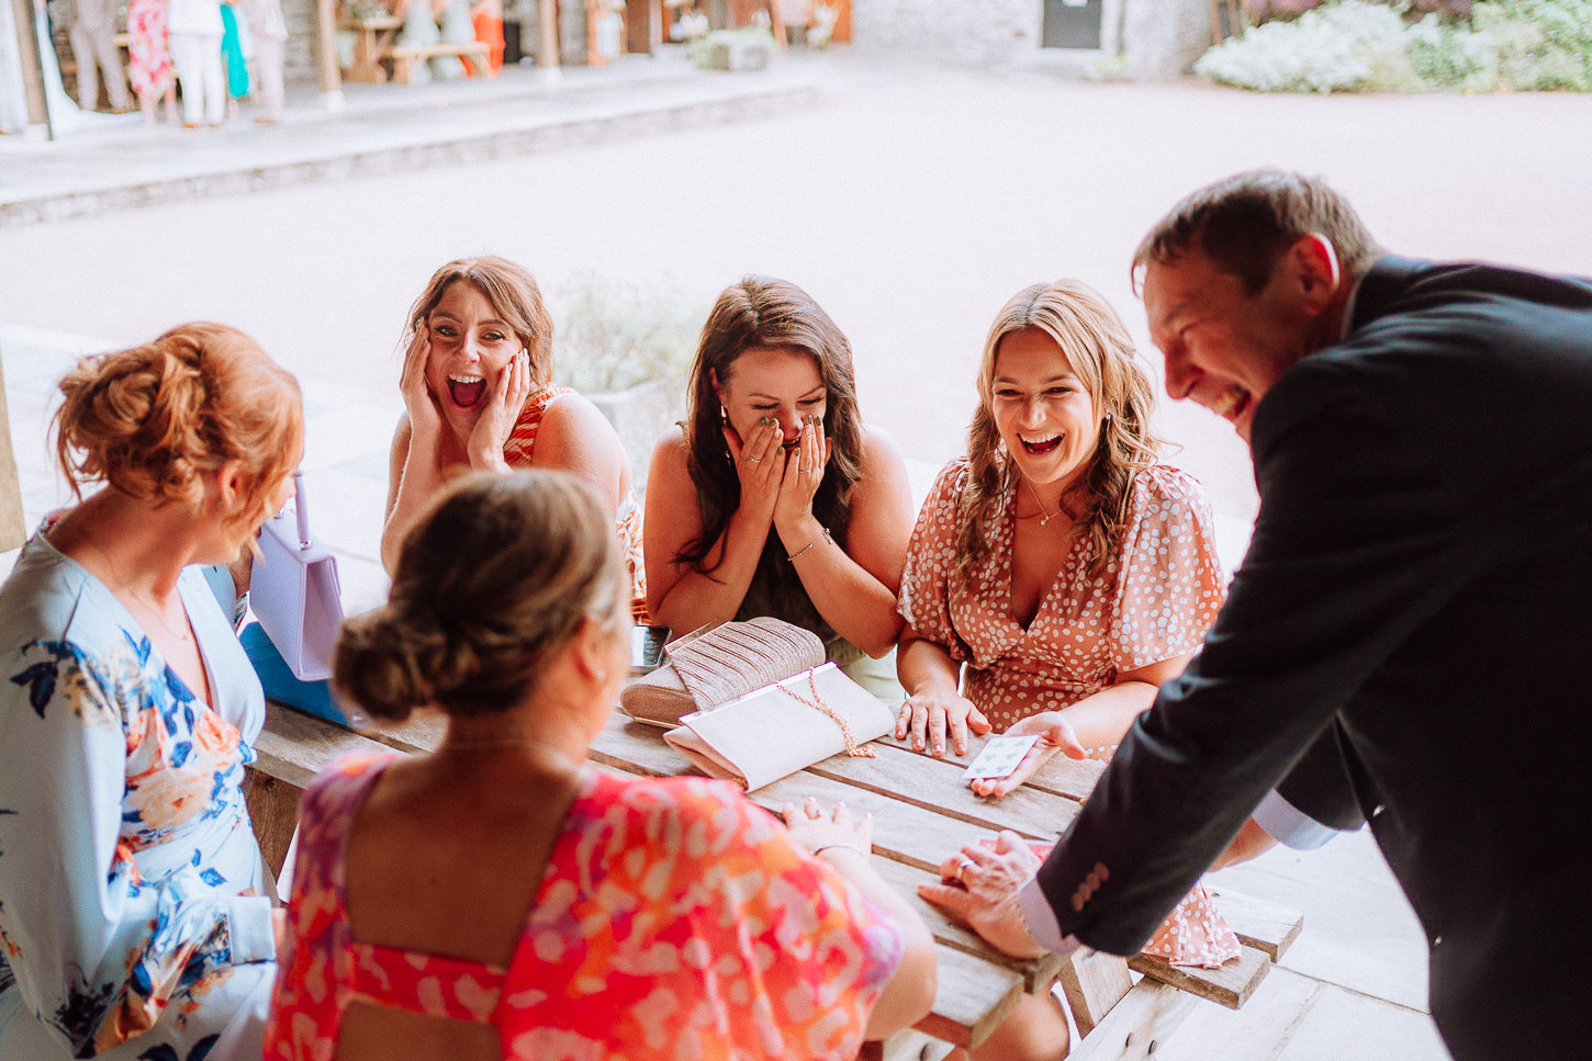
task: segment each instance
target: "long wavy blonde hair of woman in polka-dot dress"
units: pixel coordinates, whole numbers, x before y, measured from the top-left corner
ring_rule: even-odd
[[[1092,571],[1105,566],[1121,542],[1134,477],[1156,461],[1161,447],[1149,433],[1154,388],[1111,305],[1078,280],[1024,288],[1001,307],[984,342],[979,407],[968,428],[968,487],[957,514],[960,579],[989,557],[985,528],[1017,485],[1017,468],[995,426],[995,358],[1006,336],[1025,329],[1055,340],[1100,418],[1100,441],[1079,487],[1079,511],[1062,499],[1067,514],[1086,527],[1086,563]]]

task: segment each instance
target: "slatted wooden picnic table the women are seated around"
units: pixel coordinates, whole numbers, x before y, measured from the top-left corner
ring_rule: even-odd
[[[435,749],[444,727],[444,719],[423,716],[396,729],[360,735],[269,705],[266,729],[255,748],[259,760],[252,767],[248,794],[261,848],[272,869],[280,867],[293,834],[298,794],[318,770],[342,754],[371,751],[379,744],[403,752]],[[662,732],[632,722],[616,709],[592,741],[591,760],[599,770],[629,775],[696,773],[680,752],[664,743]],[[957,1045],[977,1045],[1024,993],[1046,991],[1057,977],[1091,1048],[1103,1047],[1100,1040],[1108,1037],[1127,1045],[1135,1032],[1145,1042],[1146,1028],[1165,1020],[1169,1007],[1191,1002],[1192,996],[1231,1009],[1248,1001],[1270,964],[1299,932],[1299,915],[1275,904],[1212,889],[1243,943],[1243,956],[1223,969],[1205,970],[1176,969],[1146,956],[1124,962],[1089,951],[1070,961],[1054,954],[1020,961],[995,951],[963,923],[919,899],[917,884],[938,880],[947,856],[981,837],[993,837],[1000,829],[1054,843],[1103,770],[1098,762],[1055,757],[1011,795],[987,800],[962,781],[966,760],[977,754],[982,743],[984,738],[970,741],[970,756],[963,759],[933,759],[885,738],[876,744],[877,759],[834,756],[748,794],[753,803],[774,813],[809,795],[825,803],[844,800],[856,811],[872,813],[874,853],[879,856],[874,867],[909,897],[936,942],[939,989],[933,1012],[917,1026],[919,1031]],[[1138,986],[1130,969],[1143,974]],[[1111,1051],[1102,1056],[1122,1055]]]

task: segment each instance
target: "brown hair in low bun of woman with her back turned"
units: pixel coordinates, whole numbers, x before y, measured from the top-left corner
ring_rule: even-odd
[[[401,722],[420,705],[490,714],[535,690],[581,627],[629,624],[613,522],[570,472],[474,472],[404,536],[387,604],[342,624],[334,682]]]

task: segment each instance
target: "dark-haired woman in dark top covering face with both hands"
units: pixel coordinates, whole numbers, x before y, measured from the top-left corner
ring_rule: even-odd
[[[901,695],[888,657],[912,530],[906,463],[863,426],[852,347],[812,296],[767,277],[718,296],[648,496],[656,622],[783,619],[864,689]]]

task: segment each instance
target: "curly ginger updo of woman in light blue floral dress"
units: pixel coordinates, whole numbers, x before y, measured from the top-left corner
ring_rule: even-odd
[[[304,442],[298,380],[226,325],[180,325],[83,358],[60,393],[56,460],[80,499],[84,485],[105,482],[140,501],[199,504],[204,476],[236,460],[244,488],[228,523],[253,527],[271,515]]]

